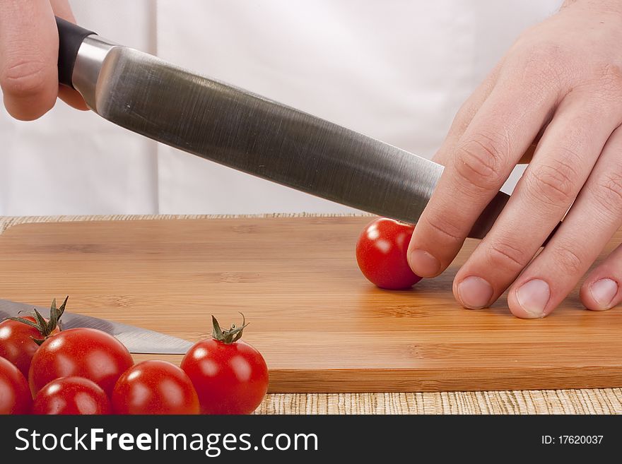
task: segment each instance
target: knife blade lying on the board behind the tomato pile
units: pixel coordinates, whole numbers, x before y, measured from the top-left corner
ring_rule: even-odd
[[[32,304],[0,299],[0,321],[8,317],[28,315],[33,312],[33,308],[36,308],[41,314],[47,314],[49,311],[49,308],[45,307],[35,307]],[[99,331],[110,333],[110,335],[114,335],[117,340],[123,343],[129,352],[134,354],[184,355],[194,345],[188,340],[149,331],[146,328],[129,326],[119,322],[106,321],[97,317],[65,311],[61,320],[61,328],[66,330],[76,327],[96,328]]]

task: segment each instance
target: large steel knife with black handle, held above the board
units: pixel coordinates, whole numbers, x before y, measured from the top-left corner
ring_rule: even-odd
[[[59,82],[108,121],[206,160],[416,223],[442,165],[57,18]],[[499,192],[469,237],[507,203]]]

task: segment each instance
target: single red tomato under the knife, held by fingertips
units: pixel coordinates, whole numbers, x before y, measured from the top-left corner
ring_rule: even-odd
[[[373,284],[389,290],[412,287],[421,277],[406,259],[415,226],[387,218],[370,222],[356,242],[356,262]]]

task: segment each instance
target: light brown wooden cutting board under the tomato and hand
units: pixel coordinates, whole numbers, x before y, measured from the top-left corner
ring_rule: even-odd
[[[369,220],[19,225],[0,236],[0,298],[46,305],[70,295],[69,311],[188,340],[209,336],[210,314],[226,326],[241,311],[273,392],[622,386],[621,309],[587,311],[576,292],[538,321],[511,316],[505,299],[461,309],[452,278],[475,241],[440,278],[377,289],[354,258]]]

